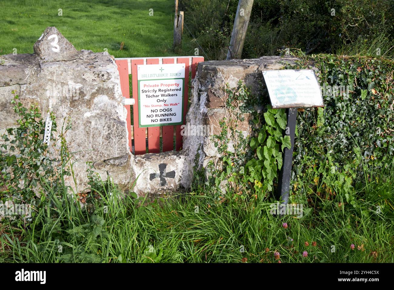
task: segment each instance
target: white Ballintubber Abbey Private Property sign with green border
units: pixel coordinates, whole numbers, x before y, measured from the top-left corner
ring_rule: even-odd
[[[139,127],[181,125],[185,64],[137,65]]]

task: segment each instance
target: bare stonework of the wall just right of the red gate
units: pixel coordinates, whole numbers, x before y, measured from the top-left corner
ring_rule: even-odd
[[[208,136],[184,136],[183,151],[189,164],[188,171],[184,172],[182,185],[187,187],[193,179],[193,168],[207,168],[208,162],[213,161],[217,165],[220,154],[214,145],[217,139],[212,135],[219,135],[221,127],[219,121],[223,118],[229,120],[232,110],[226,106],[228,88],[236,88],[238,81],[251,89],[252,95],[262,94],[260,84],[264,83],[262,71],[281,69],[286,64],[295,64],[297,59],[293,57],[263,56],[256,59],[223,60],[201,62],[198,65],[196,78],[193,80],[191,107],[186,116],[186,122],[191,124],[204,124],[211,126]],[[262,108],[256,107],[256,110]],[[244,120],[237,120],[235,127],[242,132],[244,138],[251,133],[249,124],[250,114],[243,114]],[[230,131],[228,150],[234,152],[233,140]],[[219,169],[219,167],[217,167]],[[206,172],[209,174],[210,172]]]

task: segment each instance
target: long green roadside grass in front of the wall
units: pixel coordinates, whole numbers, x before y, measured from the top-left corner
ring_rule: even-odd
[[[90,198],[85,208],[66,190],[57,197],[48,188],[48,198],[31,225],[0,225],[0,262],[241,262],[247,258],[247,262],[269,263],[277,262],[273,254],[277,251],[281,262],[392,263],[394,175],[387,171],[365,176],[357,185],[356,206],[336,196],[320,200],[319,210],[300,219],[271,215],[273,200],[261,196],[216,204],[209,188],[148,202],[131,196],[120,199],[115,190],[110,196],[108,187],[102,187],[100,198]],[[377,204],[380,213],[375,212]],[[305,246],[305,241],[310,245]],[[302,257],[303,251],[308,257]]]

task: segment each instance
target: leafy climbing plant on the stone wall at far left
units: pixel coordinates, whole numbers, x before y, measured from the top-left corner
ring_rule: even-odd
[[[43,143],[45,122],[36,104],[26,108],[15,94],[11,103],[13,109],[19,115],[17,124],[19,127],[10,128],[1,137],[4,140],[1,145],[0,155],[0,202],[4,204],[11,201],[13,204],[30,204],[35,209],[45,200],[43,188],[50,187],[53,191],[61,188],[59,172],[70,174],[64,164],[68,161],[67,148],[63,134],[60,134],[61,148],[60,160],[54,160],[48,154],[48,145]],[[56,120],[50,113],[52,131],[56,131]],[[67,131],[67,130],[66,130]],[[15,215],[16,217],[16,215]],[[23,216],[22,216],[23,217]],[[18,219],[14,219],[18,220]]]

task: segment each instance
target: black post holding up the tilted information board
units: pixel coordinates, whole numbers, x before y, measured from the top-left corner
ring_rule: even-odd
[[[292,162],[293,162],[293,150],[294,150],[294,134],[296,133],[296,118],[297,118],[297,108],[286,109],[287,116],[287,127],[285,130],[285,135],[290,136],[292,141],[292,148],[284,148],[283,152],[283,164],[281,172],[278,176],[278,187],[276,198],[281,200],[281,204],[286,205],[289,201],[290,193],[290,177],[292,172]]]

